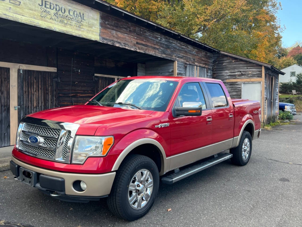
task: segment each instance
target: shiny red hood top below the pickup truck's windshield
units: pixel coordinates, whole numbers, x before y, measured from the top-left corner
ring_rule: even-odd
[[[28,115],[45,120],[69,122],[77,124],[94,124],[96,127],[104,123],[114,123],[125,120],[145,118],[154,111],[117,107],[75,105],[42,110]]]

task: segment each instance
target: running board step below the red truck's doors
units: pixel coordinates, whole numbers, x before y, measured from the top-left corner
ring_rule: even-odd
[[[201,170],[207,169],[211,166],[214,166],[218,163],[221,163],[227,159],[230,159],[233,156],[233,154],[223,154],[221,156],[214,157],[212,159],[209,159],[207,161],[204,161],[202,163],[199,163],[195,166],[190,166],[186,169],[183,169],[177,173],[172,173],[169,176],[165,176],[162,178],[162,183],[165,184],[173,184],[181,179],[184,179],[188,176],[193,175],[194,173],[198,173]]]

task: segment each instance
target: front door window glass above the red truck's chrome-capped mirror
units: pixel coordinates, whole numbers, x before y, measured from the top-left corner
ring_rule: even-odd
[[[175,106],[177,107],[201,107],[206,109],[204,94],[199,83],[188,83],[182,86]]]

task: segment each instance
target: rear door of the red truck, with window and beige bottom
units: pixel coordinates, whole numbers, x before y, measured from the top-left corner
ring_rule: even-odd
[[[222,82],[205,82],[204,86],[212,109],[213,150],[227,150],[231,147],[234,136],[234,108],[230,95]]]

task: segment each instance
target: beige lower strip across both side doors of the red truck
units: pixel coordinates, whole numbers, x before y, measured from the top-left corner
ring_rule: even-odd
[[[195,150],[190,150],[181,154],[168,157],[170,159],[170,170],[194,163],[203,158],[217,154],[219,152],[230,149],[233,143],[233,138],[224,140],[219,143],[214,143]]]

